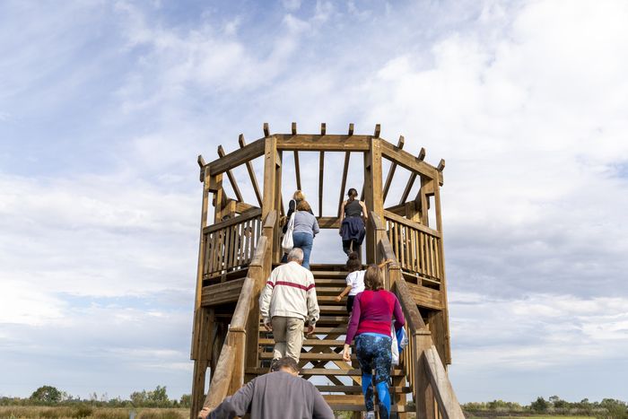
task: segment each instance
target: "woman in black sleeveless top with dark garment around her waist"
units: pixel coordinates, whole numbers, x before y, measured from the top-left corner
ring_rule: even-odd
[[[362,256],[360,246],[364,240],[364,224],[369,218],[366,205],[358,199],[358,191],[355,188],[349,189],[347,193],[349,199],[343,202],[340,207],[340,229],[338,234],[343,238],[343,250],[349,256],[352,251]]]

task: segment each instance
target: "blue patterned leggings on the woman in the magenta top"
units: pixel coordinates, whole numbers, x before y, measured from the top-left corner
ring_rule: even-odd
[[[379,334],[362,334],[355,337],[355,354],[362,369],[362,393],[366,410],[375,410],[373,405],[373,386],[377,388],[379,398],[379,417],[390,416],[390,364],[392,338]],[[374,372],[373,372],[374,370]],[[374,375],[374,377],[373,377]]]

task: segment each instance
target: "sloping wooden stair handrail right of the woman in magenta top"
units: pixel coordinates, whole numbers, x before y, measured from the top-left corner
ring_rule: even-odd
[[[376,234],[378,261],[392,260],[384,266],[385,284],[397,295],[406,318],[408,345],[400,354],[400,367],[412,388],[416,403],[416,417],[435,419],[437,412],[442,419],[464,419],[462,409],[449,381],[447,371],[432,343],[430,330],[425,327],[421,313],[408,289],[404,275],[397,263],[397,256],[384,234],[379,216],[371,213],[371,223]],[[401,395],[399,397],[404,397]]]

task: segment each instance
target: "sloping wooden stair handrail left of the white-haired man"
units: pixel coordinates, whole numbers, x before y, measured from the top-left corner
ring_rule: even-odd
[[[267,256],[272,251],[272,229],[266,228],[266,224],[274,225],[275,219],[275,212],[266,217],[265,234],[257,240],[255,255],[249,263],[249,273],[242,284],[240,298],[231,318],[229,331],[222,345],[215,371],[212,371],[211,384],[203,405],[210,411],[220,405],[227,395],[233,394],[242,387],[247,362],[247,346],[254,346],[257,350],[257,341],[248,340],[246,331],[251,316],[258,319],[257,306],[254,302],[257,299],[260,284],[266,281],[268,270],[266,265],[270,261]],[[249,335],[253,332],[249,330]]]

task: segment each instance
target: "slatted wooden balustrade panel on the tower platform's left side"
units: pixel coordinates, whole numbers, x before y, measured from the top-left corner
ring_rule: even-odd
[[[261,234],[261,214],[262,211],[256,208],[205,227],[204,279],[220,277],[249,266]]]

